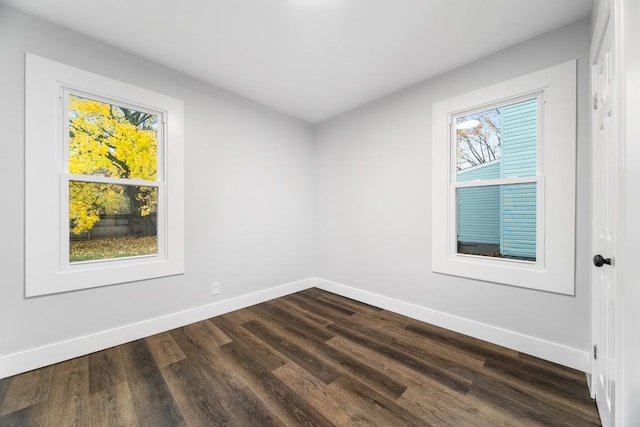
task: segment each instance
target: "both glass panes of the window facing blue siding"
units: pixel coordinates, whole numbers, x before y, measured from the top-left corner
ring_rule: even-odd
[[[454,120],[457,253],[536,260],[538,98]],[[492,185],[483,181],[492,180]],[[495,185],[495,183],[499,185]]]

